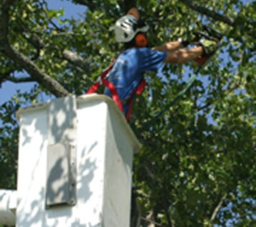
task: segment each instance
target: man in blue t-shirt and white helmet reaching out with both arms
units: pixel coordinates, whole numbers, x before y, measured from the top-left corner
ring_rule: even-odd
[[[128,11],[115,23],[115,38],[124,44],[125,50],[117,57],[106,79],[115,90],[105,88],[105,95],[119,96],[124,114],[129,117],[131,100],[143,81],[143,74],[147,71],[157,71],[163,63],[185,63],[197,59],[199,56],[210,56],[216,51],[215,41],[201,40],[195,48],[183,49],[188,45],[186,41],[167,42],[153,48],[147,47],[147,31],[149,26],[140,20],[140,13],[136,8]]]

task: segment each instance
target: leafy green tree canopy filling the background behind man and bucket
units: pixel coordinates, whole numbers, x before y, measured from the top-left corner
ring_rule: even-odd
[[[218,56],[173,105],[164,110],[195,73],[192,63],[146,74],[136,97],[130,125],[142,143],[134,157],[141,226],[256,226],[256,2],[70,0],[83,9],[79,19],[49,2],[0,0],[0,84],[34,82],[0,107],[1,188],[16,187],[15,111],[40,94],[85,94],[122,51],[115,20],[136,6],[151,46],[190,38],[202,24],[224,35]]]

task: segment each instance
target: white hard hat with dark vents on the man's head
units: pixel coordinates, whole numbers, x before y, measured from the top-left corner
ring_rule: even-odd
[[[146,23],[138,23],[133,15],[126,15],[115,23],[115,39],[117,42],[129,42],[138,32],[147,32],[149,26]]]

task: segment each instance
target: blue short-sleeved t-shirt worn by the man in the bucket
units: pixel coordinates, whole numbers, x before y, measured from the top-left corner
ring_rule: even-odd
[[[126,100],[133,94],[147,71],[157,71],[164,62],[167,53],[154,51],[151,48],[130,48],[124,51],[116,59],[113,68],[106,77],[113,83],[121,101]],[[112,97],[108,88],[105,95]],[[129,104],[123,106],[127,113]]]

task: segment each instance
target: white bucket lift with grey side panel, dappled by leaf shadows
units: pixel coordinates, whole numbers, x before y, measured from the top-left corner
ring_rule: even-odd
[[[58,98],[17,118],[17,191],[0,190],[0,224],[129,227],[140,144],[110,98]]]

